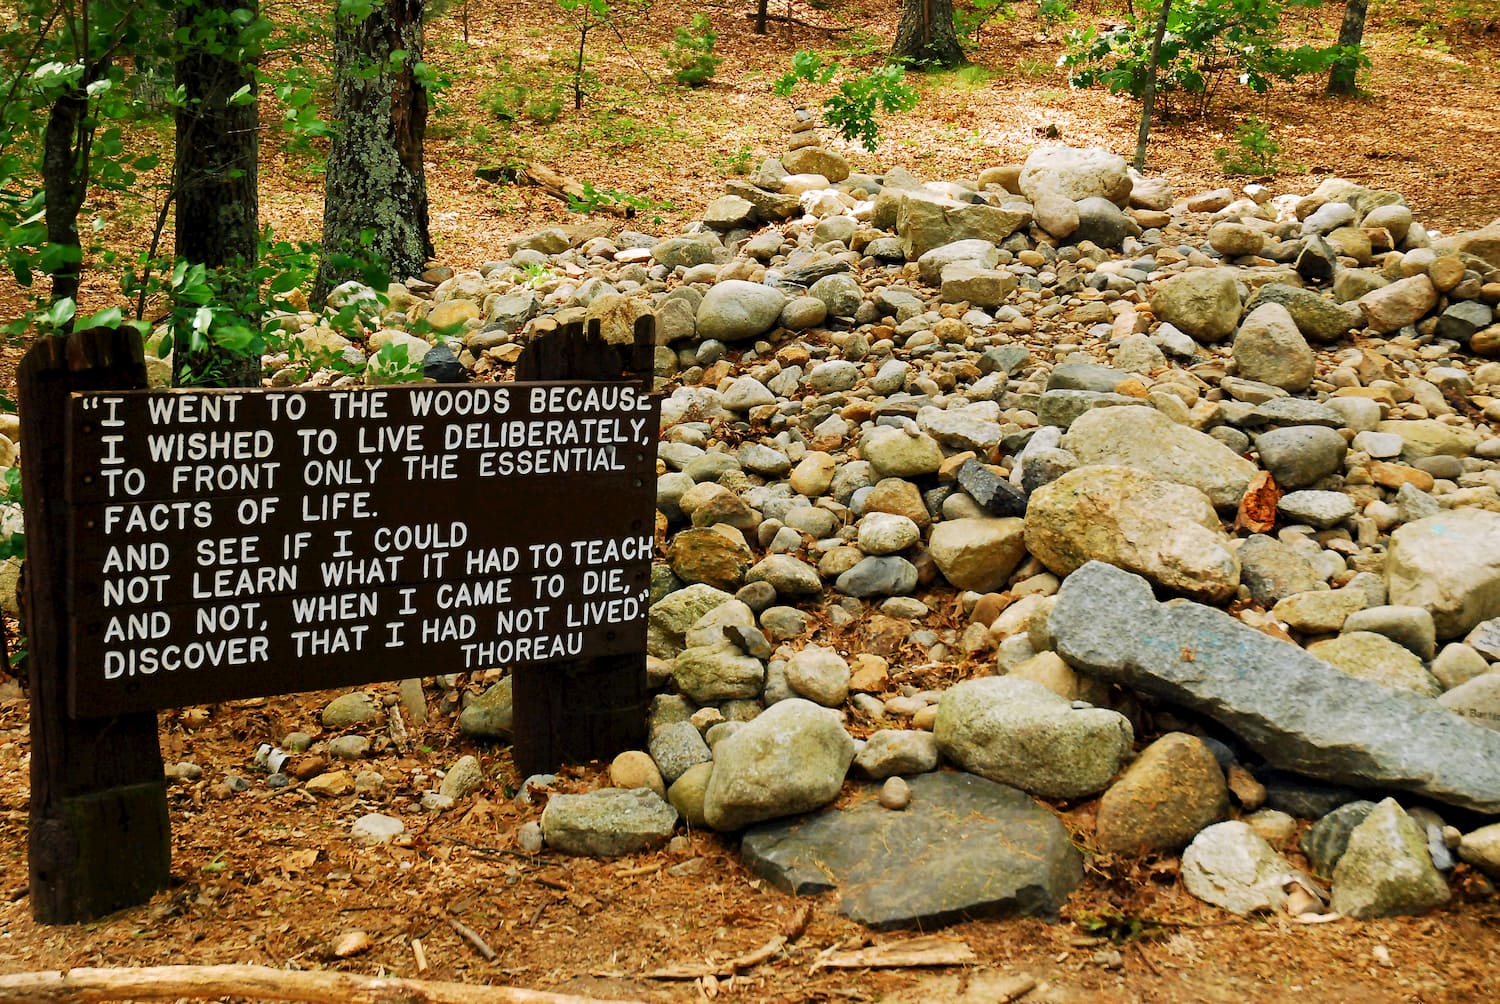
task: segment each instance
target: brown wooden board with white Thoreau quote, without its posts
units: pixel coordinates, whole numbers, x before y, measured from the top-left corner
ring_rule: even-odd
[[[69,711],[645,651],[632,383],[68,401]]]

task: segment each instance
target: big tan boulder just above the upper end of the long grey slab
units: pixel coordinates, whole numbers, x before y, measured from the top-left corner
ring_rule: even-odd
[[[1239,587],[1239,560],[1208,495],[1131,467],[1080,467],[1038,488],[1024,539],[1056,575],[1108,561],[1210,603]]]

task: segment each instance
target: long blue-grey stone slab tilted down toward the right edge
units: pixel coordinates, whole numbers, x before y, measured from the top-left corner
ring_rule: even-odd
[[[1500,813],[1500,732],[1220,609],[1158,603],[1137,575],[1084,564],[1064,581],[1047,627],[1074,668],[1208,714],[1274,767]]]

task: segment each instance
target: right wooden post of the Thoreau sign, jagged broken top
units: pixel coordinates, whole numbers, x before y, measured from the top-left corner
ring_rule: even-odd
[[[651,380],[656,318],[636,321],[630,359],[604,342],[598,321],[570,324],[531,342],[516,360],[516,380]],[[650,384],[648,384],[650,386]],[[654,534],[652,525],[634,533]],[[512,669],[514,744],[522,777],[564,762],[609,759],[646,741],[645,651]]]

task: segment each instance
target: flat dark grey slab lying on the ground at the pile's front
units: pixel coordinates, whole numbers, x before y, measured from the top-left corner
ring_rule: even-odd
[[[1083,858],[1052,812],[975,774],[909,777],[903,810],[876,801],[782,819],[746,833],[753,872],[794,896],[838,890],[838,912],[878,930],[976,917],[1056,920]]]

